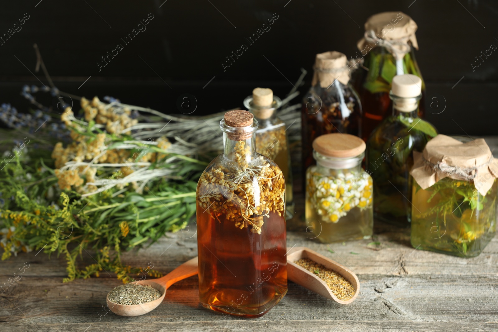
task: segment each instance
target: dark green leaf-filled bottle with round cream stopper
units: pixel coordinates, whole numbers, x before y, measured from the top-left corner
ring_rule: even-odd
[[[393,114],[373,130],[367,142],[366,166],[373,178],[375,218],[408,227],[411,221],[413,151],[420,152],[437,135],[432,124],[418,118],[422,80],[405,74],[392,79]]]

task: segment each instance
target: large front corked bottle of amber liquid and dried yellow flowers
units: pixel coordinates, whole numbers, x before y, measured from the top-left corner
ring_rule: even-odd
[[[257,125],[248,111],[225,114],[224,153],[202,173],[196,193],[200,303],[249,318],[287,292],[285,182],[255,151]]]

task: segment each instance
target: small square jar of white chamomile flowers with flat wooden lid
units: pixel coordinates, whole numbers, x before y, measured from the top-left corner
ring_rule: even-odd
[[[349,134],[325,134],[313,141],[316,165],[306,173],[306,222],[321,242],[372,236],[372,178],[362,169],[365,147],[360,137]]]

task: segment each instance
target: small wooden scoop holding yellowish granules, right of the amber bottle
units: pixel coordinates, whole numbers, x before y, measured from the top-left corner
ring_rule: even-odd
[[[316,274],[311,273],[310,271],[294,263],[301,258],[309,258],[312,261],[322,264],[326,268],[329,268],[348,279],[348,281],[355,288],[355,295],[348,301],[339,300],[334,293],[332,293],[329,286],[327,286],[327,284]],[[355,301],[358,293],[360,292],[360,281],[354,272],[348,270],[332,259],[322,256],[318,252],[306,247],[295,247],[289,249],[289,252],[287,253],[287,279],[340,304],[348,304]]]

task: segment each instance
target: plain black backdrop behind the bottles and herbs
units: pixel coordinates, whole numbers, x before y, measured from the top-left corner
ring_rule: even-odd
[[[113,96],[166,113],[179,113],[177,100],[186,93],[198,103],[193,115],[241,108],[257,86],[284,97],[301,67],[308,71],[299,89],[304,93],[316,53],[338,50],[349,58],[366,19],[391,10],[418,24],[416,57],[427,84],[426,118],[445,134],[497,135],[498,52],[475,71],[471,65],[478,64],[481,51],[498,45],[496,0],[8,1],[0,12],[0,35],[24,13],[30,18],[0,46],[0,102],[26,111],[22,85],[47,84],[43,73],[34,71],[37,43],[64,92]],[[146,30],[125,45],[121,38],[149,13],[154,18]],[[271,30],[249,45],[245,38],[273,13],[278,19]],[[225,57],[243,43],[249,49],[224,71]],[[117,44],[124,49],[99,72],[97,63]],[[49,95],[39,95],[50,103]]]

